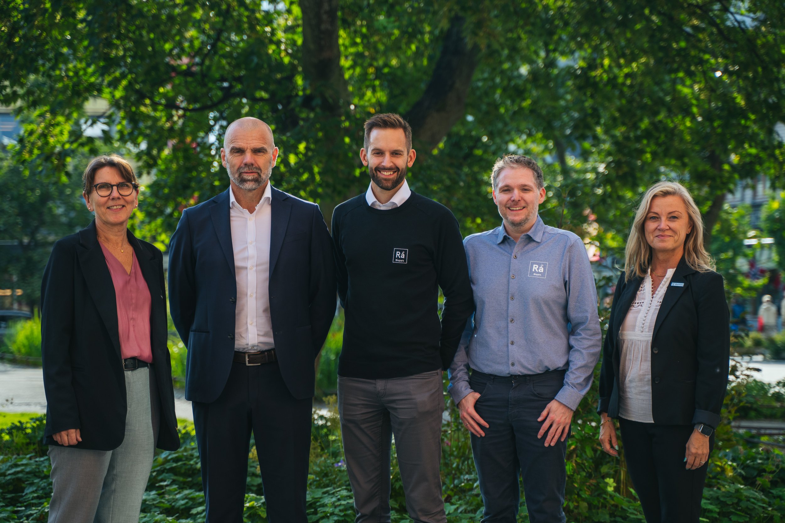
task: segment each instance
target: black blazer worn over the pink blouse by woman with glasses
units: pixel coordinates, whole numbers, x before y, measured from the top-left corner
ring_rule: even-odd
[[[177,450],[172,367],[166,348],[163,257],[128,231],[152,298],[152,369],[160,398],[156,446]],[[95,221],[54,244],[41,284],[41,353],[46,390],[46,444],[52,434],[79,429],[77,449],[117,449],[126,431],[115,285],[96,236]],[[152,376],[151,376],[152,377]]]

